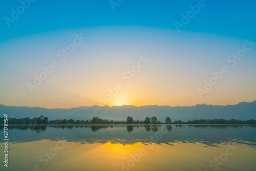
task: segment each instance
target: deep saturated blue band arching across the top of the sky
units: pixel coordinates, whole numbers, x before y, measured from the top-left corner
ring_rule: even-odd
[[[124,0],[112,10],[109,1],[40,1],[31,3],[20,17],[6,26],[1,20],[0,42],[24,35],[94,26],[149,26],[174,29],[181,14],[199,1]],[[255,1],[205,1],[191,22],[188,32],[227,35],[238,38],[255,36]],[[3,1],[1,18],[10,17],[18,1]]]

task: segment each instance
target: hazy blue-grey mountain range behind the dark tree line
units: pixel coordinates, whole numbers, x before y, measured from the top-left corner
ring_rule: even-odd
[[[101,108],[95,114],[94,110]],[[109,120],[126,120],[131,116],[134,120],[144,120],[146,116],[156,116],[158,120],[164,122],[166,116],[175,120],[187,121],[193,119],[256,119],[256,100],[252,102],[240,102],[236,105],[207,105],[197,104],[195,106],[158,106],[158,105],[123,105],[123,106],[80,106],[71,109],[46,109],[39,107],[25,106],[5,106],[0,104],[0,113],[7,112],[10,117],[39,117],[44,115],[50,120],[55,119],[83,119],[89,120],[94,116]]]

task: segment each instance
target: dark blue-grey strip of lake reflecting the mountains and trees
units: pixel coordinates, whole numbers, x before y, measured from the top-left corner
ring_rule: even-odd
[[[64,137],[80,143],[135,144],[157,136],[160,138],[154,141],[158,144],[200,142],[218,146],[230,139],[256,142],[251,136],[256,134],[256,125],[9,125],[9,132],[13,143]]]

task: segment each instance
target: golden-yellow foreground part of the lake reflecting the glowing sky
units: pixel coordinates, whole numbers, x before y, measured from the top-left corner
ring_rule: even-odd
[[[199,142],[175,142],[171,145],[162,143],[146,145],[141,142],[125,145],[111,142],[104,144],[66,142],[66,146],[57,152],[53,160],[49,160],[49,164],[44,165],[39,162],[38,158],[45,152],[50,152],[57,142],[40,140],[11,144],[11,155],[17,158],[12,161],[13,170],[27,170],[33,168],[34,163],[38,163],[44,170],[122,170],[122,168],[123,170],[169,170],[169,168],[205,170],[209,169],[209,161],[225,153],[228,147],[227,144],[218,144],[218,147],[215,147]],[[236,148],[221,167],[250,170],[255,158],[253,147],[242,143],[236,145],[240,148]],[[3,145],[0,145],[0,148],[3,148]],[[215,167],[210,167],[212,168]]]

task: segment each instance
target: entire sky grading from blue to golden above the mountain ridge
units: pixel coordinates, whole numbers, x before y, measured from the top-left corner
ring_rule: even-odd
[[[0,104],[256,100],[255,1],[7,1]]]

